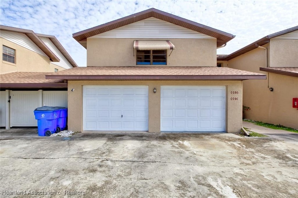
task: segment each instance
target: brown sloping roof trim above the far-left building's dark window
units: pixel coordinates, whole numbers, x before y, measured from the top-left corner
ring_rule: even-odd
[[[34,42],[50,58],[51,61],[53,62],[60,61],[59,58],[49,49],[49,47],[46,46],[46,44],[44,44],[44,42],[42,42],[42,40],[32,30],[2,26],[2,25],[0,25],[0,30],[26,34],[26,36],[29,37],[32,40],[32,42]]]

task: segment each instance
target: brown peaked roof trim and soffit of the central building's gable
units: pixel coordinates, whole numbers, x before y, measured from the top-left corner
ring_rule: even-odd
[[[115,29],[119,28],[131,23],[134,23],[136,21],[140,21],[146,18],[158,18],[164,21],[167,21],[169,23],[173,23],[175,25],[188,28],[197,32],[200,32],[202,34],[209,35],[211,37],[215,37],[218,39],[217,41],[217,46],[222,46],[229,40],[233,39],[235,36],[229,33],[226,33],[224,31],[217,30],[215,28],[211,28],[205,25],[202,25],[200,23],[196,23],[191,20],[187,20],[185,18],[181,18],[179,16],[163,12],[161,10],[155,9],[155,8],[150,8],[147,10],[144,10],[142,12],[138,12],[108,23],[104,23],[99,26],[95,26],[93,28],[89,28],[77,33],[72,34],[72,37],[77,40],[83,47],[86,48],[86,38]],[[82,41],[82,42],[81,42]]]

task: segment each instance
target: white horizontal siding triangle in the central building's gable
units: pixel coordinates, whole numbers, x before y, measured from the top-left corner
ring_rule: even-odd
[[[89,38],[199,38],[216,39],[154,17],[137,21]]]

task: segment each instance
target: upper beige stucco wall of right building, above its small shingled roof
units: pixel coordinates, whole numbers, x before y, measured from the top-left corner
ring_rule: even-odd
[[[298,66],[298,39],[270,39],[270,67]]]

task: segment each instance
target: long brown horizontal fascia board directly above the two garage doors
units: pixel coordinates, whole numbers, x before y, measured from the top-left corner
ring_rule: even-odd
[[[266,75],[46,75],[46,79],[63,79],[63,80],[249,80],[249,79],[266,79]]]

